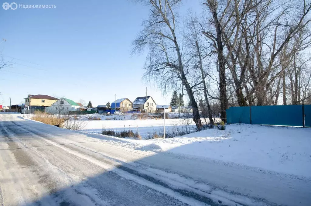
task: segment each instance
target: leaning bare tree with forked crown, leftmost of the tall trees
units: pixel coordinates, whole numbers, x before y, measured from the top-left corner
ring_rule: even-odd
[[[183,85],[193,108],[193,121],[197,129],[202,127],[193,87],[188,81],[188,66],[184,65],[182,47],[177,37],[175,9],[180,0],[141,0],[151,6],[149,20],[143,22],[144,29],[133,41],[133,53],[148,45],[145,77],[155,79],[164,91]]]

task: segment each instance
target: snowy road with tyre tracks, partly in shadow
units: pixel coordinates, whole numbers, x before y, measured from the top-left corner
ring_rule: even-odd
[[[0,117],[1,205],[309,205],[311,181]]]

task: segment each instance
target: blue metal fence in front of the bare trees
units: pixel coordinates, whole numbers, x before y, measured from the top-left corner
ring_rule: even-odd
[[[227,123],[311,127],[311,105],[230,107]]]

